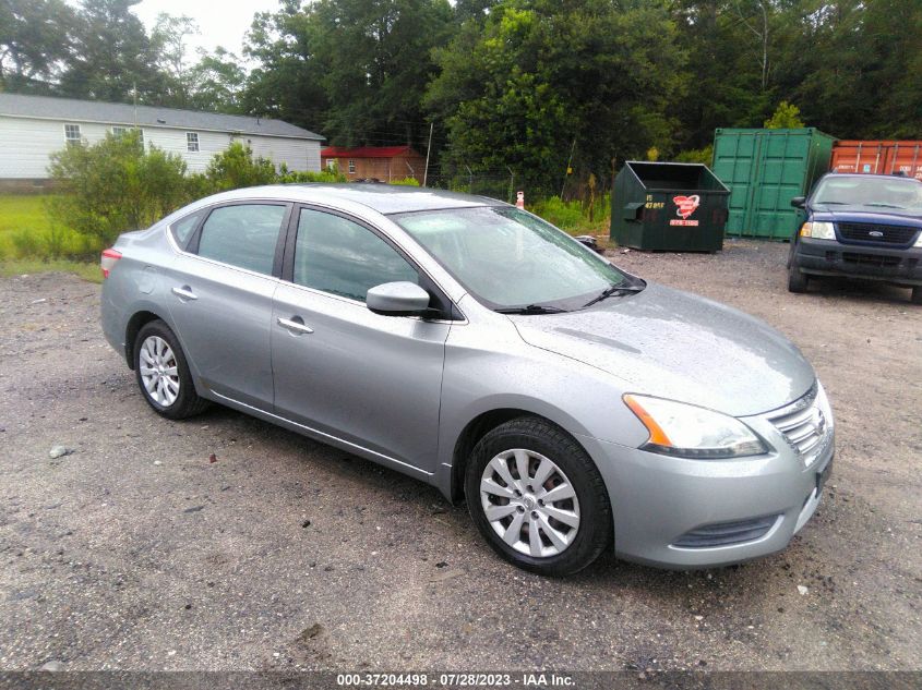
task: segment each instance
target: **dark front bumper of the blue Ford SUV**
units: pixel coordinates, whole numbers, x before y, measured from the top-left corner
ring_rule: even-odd
[[[843,276],[902,286],[922,285],[922,249],[846,244],[801,238],[794,264],[813,276]]]

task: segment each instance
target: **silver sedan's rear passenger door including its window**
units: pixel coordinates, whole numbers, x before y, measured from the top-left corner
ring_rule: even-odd
[[[273,403],[272,298],[290,209],[279,202],[209,209],[167,275],[170,314],[197,383],[262,410]]]

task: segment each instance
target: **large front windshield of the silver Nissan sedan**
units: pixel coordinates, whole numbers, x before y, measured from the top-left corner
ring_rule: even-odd
[[[634,283],[590,249],[518,208],[453,208],[392,219],[491,308],[578,308],[613,285]]]

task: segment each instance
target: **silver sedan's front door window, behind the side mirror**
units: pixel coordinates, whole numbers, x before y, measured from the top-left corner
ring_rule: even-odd
[[[298,285],[360,302],[382,282],[419,282],[416,269],[371,230],[309,208],[298,219],[292,277]]]

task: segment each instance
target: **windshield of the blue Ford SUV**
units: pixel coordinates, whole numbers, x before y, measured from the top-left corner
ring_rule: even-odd
[[[870,206],[896,210],[922,211],[922,183],[886,175],[836,177],[819,182],[813,204]]]

